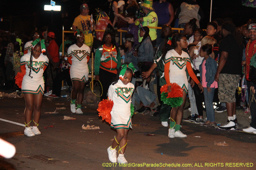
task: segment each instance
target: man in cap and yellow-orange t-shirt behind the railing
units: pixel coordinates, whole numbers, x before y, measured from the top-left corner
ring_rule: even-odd
[[[79,9],[81,14],[75,18],[72,25],[72,31],[79,29],[88,33],[88,31],[91,30],[90,15],[88,15],[89,7],[87,4],[82,4]]]

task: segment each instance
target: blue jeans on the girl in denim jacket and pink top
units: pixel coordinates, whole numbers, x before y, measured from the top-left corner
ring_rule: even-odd
[[[207,120],[210,120],[210,122],[215,122],[214,108],[213,108],[213,96],[214,96],[215,88],[211,88],[211,90],[212,90],[211,92],[208,92],[207,88],[204,87],[205,108],[206,108]]]

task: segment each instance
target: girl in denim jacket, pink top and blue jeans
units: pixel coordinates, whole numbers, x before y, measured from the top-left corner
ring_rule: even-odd
[[[199,66],[200,77],[202,86],[204,88],[205,108],[207,114],[207,122],[204,124],[215,124],[213,96],[215,88],[218,88],[218,83],[214,80],[217,71],[216,61],[210,57],[212,53],[212,45],[205,44],[201,46],[199,55],[204,57],[201,65]]]

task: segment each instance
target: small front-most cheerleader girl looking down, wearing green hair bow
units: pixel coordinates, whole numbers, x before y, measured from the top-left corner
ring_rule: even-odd
[[[131,124],[131,96],[134,85],[130,83],[134,75],[133,63],[124,63],[119,67],[115,81],[108,89],[108,99],[114,105],[111,114],[111,128],[116,129],[117,135],[114,137],[112,145],[108,148],[108,158],[113,163],[127,163],[124,158],[127,145],[127,134]],[[119,145],[119,155],[116,158],[115,148]]]

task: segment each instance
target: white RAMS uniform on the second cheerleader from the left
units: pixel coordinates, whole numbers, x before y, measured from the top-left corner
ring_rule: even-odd
[[[67,51],[68,57],[72,57],[70,67],[71,81],[78,80],[80,82],[88,81],[88,61],[90,59],[90,47],[83,44],[80,48],[73,44]]]

